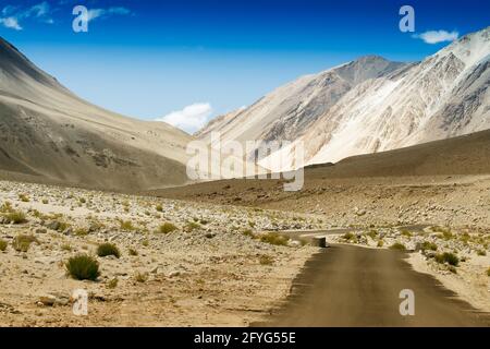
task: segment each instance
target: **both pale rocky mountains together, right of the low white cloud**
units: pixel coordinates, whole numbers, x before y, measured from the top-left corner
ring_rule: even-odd
[[[489,61],[490,27],[418,63],[365,57],[280,87],[213,130],[225,140],[293,141],[259,163],[272,170],[290,169],[273,164],[298,144],[306,164],[322,164],[487,130]]]

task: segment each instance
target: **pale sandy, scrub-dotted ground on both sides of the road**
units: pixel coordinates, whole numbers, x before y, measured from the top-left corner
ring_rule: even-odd
[[[330,242],[370,249],[403,244],[415,270],[434,276],[474,308],[489,311],[487,177],[332,181],[322,184],[324,190],[303,194],[271,197],[275,192],[269,191],[269,201],[258,201],[256,207],[245,203],[260,188],[257,182],[247,183],[254,190],[240,201],[233,200],[235,188],[222,188],[220,193],[225,195],[219,202],[216,195],[215,200],[181,201],[0,182],[0,240],[7,242],[0,252],[0,324],[256,323],[282,304],[292,280],[318,250],[302,246],[302,241],[273,245],[250,236],[335,228],[343,228],[342,233],[329,234]],[[217,190],[222,183],[212,185]],[[201,198],[205,202],[196,201]],[[229,200],[234,205],[225,204]],[[27,221],[5,221],[12,210],[25,213]],[[176,230],[158,233],[163,222],[175,225]],[[414,226],[401,229],[402,224]],[[27,252],[15,251],[12,242],[19,234],[34,236],[37,242]],[[102,242],[115,244],[121,257],[97,257],[101,269],[97,282],[66,275],[64,264],[70,257],[95,255]],[[137,255],[131,255],[130,249]],[[443,253],[456,255],[457,266],[437,262]],[[118,285],[111,288],[114,279]],[[79,288],[90,294],[88,316],[72,312],[70,298]]]

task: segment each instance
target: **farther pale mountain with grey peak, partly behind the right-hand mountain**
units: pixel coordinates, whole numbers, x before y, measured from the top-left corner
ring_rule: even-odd
[[[319,74],[299,77],[244,110],[212,120],[197,135],[206,140],[211,131],[218,131],[222,140],[294,141],[348,91],[404,65],[366,56]]]

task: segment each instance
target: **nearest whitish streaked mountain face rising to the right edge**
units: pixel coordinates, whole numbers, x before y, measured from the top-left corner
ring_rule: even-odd
[[[490,27],[359,84],[296,144],[305,145],[307,164],[321,164],[490,129],[489,59]]]

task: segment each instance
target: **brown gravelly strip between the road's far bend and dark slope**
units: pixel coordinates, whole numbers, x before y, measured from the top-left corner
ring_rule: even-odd
[[[309,174],[308,174],[309,173]],[[163,197],[319,215],[332,227],[432,224],[490,227],[490,177],[327,178],[306,173],[305,186],[284,192],[277,180],[209,182],[157,192]]]

